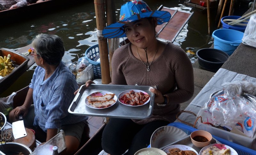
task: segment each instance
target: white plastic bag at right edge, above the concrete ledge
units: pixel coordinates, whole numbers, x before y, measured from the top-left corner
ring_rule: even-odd
[[[256,14],[250,17],[250,20],[245,28],[244,37],[242,41],[245,45],[256,48]]]

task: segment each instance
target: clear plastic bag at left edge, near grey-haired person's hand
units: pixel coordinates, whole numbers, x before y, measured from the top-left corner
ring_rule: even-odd
[[[13,109],[13,97],[15,95],[16,93],[13,92],[8,98],[0,98],[0,112],[3,113],[6,117]]]

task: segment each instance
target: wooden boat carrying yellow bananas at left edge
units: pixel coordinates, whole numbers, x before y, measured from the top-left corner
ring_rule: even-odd
[[[4,92],[5,89],[8,88],[16,79],[18,79],[20,75],[23,74],[28,68],[28,57],[11,49],[0,49],[0,56],[7,57],[8,54],[11,55],[11,61],[14,64],[14,69],[10,74],[0,79],[0,93]]]

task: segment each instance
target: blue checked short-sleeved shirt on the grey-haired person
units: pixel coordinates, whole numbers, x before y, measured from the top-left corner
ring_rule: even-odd
[[[35,105],[34,126],[38,125],[46,132],[61,125],[85,122],[88,116],[68,113],[78,89],[74,74],[61,62],[49,78],[44,80],[44,75],[44,68],[37,66],[29,84]]]

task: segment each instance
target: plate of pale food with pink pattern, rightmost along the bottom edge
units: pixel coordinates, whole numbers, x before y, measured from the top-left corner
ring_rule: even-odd
[[[230,155],[238,155],[238,153],[230,146],[225,144],[210,144],[199,152],[199,155],[208,155],[208,154],[230,154]]]

